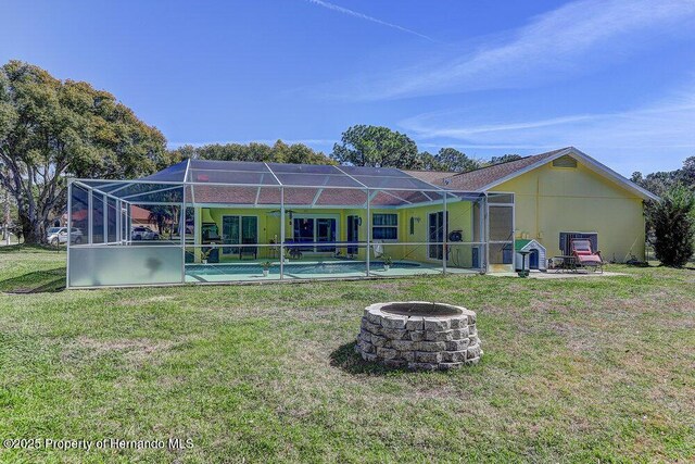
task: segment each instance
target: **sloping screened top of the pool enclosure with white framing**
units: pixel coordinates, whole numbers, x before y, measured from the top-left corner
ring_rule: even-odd
[[[132,180],[75,179],[78,184],[137,204],[309,208],[401,208],[462,199],[457,192],[390,167],[186,160]]]

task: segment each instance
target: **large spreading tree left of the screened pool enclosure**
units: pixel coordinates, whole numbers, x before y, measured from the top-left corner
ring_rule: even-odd
[[[65,178],[124,178],[168,164],[162,133],[106,91],[20,61],[0,68],[0,183],[27,243],[46,240],[65,205]]]

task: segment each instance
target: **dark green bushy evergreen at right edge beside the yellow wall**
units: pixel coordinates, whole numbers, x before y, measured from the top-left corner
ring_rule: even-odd
[[[683,185],[667,190],[647,208],[654,226],[654,251],[666,266],[681,267],[695,251],[695,193]]]

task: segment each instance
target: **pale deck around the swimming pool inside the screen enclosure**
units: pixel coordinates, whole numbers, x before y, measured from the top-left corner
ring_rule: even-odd
[[[344,265],[345,261],[292,261],[288,263],[285,267],[285,278],[283,280],[312,280],[312,279],[354,279],[354,278],[365,278],[367,276],[366,273],[366,263],[364,261],[351,261],[351,264],[364,264],[365,271],[346,271],[346,272],[331,272],[331,273],[292,273],[292,266],[296,264],[301,265],[311,265],[311,264],[342,264]],[[415,262],[404,262],[404,263],[415,263]],[[435,275],[442,274],[442,266],[433,266],[425,263],[415,263],[418,266],[414,267],[391,267],[389,271],[384,271],[383,266],[379,264],[378,266],[370,266],[369,277],[407,277],[407,276],[418,276],[418,275]],[[239,273],[238,271],[235,273],[225,272],[225,267],[228,265],[241,266],[248,265],[250,267],[256,267],[252,273]],[[263,273],[257,271],[257,266],[261,265],[260,261],[248,261],[248,262],[224,262],[224,263],[214,263],[214,264],[187,264],[186,268],[186,281],[187,283],[229,283],[229,281],[243,281],[243,283],[263,283],[263,281],[274,281],[280,280],[280,272],[279,272],[279,263],[273,263],[273,267],[270,269],[270,274],[267,277],[263,276]],[[200,268],[200,266],[205,266],[204,273],[197,273],[194,268]],[[479,274],[476,269],[468,268],[457,268],[457,267],[447,267],[447,274]]]

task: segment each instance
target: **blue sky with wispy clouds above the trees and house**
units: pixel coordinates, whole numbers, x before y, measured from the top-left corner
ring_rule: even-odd
[[[473,158],[695,155],[695,0],[5,1],[0,61],[106,89],[169,146],[353,124]]]

